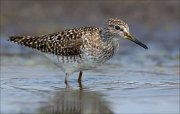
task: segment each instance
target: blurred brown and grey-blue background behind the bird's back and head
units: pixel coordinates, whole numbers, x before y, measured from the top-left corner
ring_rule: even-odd
[[[108,18],[124,20],[130,31],[146,43],[158,43],[168,48],[178,45],[178,0],[1,0],[1,39],[10,35],[38,36],[80,26],[103,27]],[[1,53],[7,53],[6,49],[12,46],[7,47],[3,41]]]

